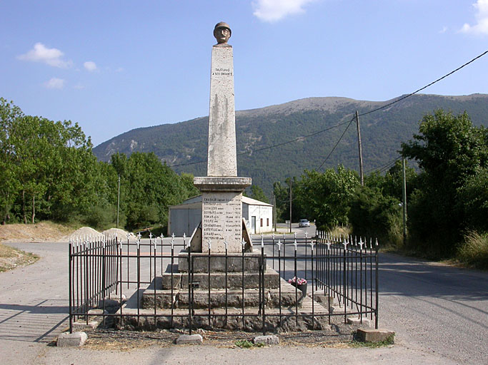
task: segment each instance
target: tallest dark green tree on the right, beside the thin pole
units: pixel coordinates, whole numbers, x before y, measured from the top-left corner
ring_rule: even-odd
[[[424,242],[429,255],[452,255],[468,220],[458,192],[487,167],[486,130],[474,127],[467,113],[436,110],[424,116],[414,140],[402,143],[402,155],[417,160],[422,169],[409,204],[410,245]]]

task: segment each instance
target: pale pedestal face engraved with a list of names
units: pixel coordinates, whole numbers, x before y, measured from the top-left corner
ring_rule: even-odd
[[[242,194],[241,192],[203,192],[201,199],[202,252],[241,252]]]

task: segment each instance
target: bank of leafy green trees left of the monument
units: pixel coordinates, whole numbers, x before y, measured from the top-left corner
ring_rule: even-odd
[[[0,98],[0,222],[51,220],[97,230],[167,225],[168,206],[196,195],[154,153],[112,155],[102,163],[77,123],[24,115]],[[119,195],[120,178],[120,195]]]

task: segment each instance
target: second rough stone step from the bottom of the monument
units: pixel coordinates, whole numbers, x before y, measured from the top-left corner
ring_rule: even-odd
[[[259,307],[259,290],[246,289],[244,292],[244,307]],[[171,308],[188,308],[189,307],[189,293],[183,289],[174,290],[156,290],[146,289],[142,294],[141,307],[148,309],[154,308],[154,301],[156,301],[156,308],[166,309]],[[242,292],[241,290],[216,290],[211,289],[210,295],[208,290],[194,290],[192,307],[194,309],[211,308],[241,308],[242,307]],[[265,290],[264,292],[265,305],[270,308],[278,308],[280,305],[280,292],[278,289]],[[294,290],[282,291],[281,305],[282,307],[294,306],[295,302],[299,306],[302,302],[302,292]]]

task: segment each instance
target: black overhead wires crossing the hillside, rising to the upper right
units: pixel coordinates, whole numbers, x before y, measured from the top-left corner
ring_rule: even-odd
[[[487,53],[488,53],[488,50],[487,51],[484,51],[479,56],[474,57],[471,61],[468,61],[467,63],[464,63],[462,66],[459,66],[458,68],[454,69],[453,71],[451,71],[449,73],[446,73],[444,76],[442,76],[440,78],[437,78],[437,80],[432,81],[432,83],[429,83],[426,86],[423,86],[422,88],[419,88],[417,91],[414,91],[413,93],[409,93],[406,96],[402,96],[401,98],[397,99],[396,101],[392,101],[391,103],[388,103],[388,104],[386,104],[384,106],[380,106],[379,108],[375,108],[373,110],[369,110],[369,111],[367,111],[365,113],[359,114],[359,116],[363,116],[363,115],[368,115],[368,114],[371,114],[371,113],[375,113],[375,112],[377,112],[379,110],[382,110],[384,108],[388,108],[389,106],[392,106],[393,104],[399,103],[400,101],[402,101],[402,100],[404,100],[406,98],[409,98],[410,96],[415,95],[416,93],[419,93],[420,91],[428,88],[429,86],[434,85],[434,83],[437,83],[437,82],[443,80],[444,78],[447,78],[448,76],[451,76],[453,73],[455,73],[455,72],[461,70],[462,68],[468,66],[469,63],[472,63],[472,62],[476,61],[478,58],[482,58],[482,56],[484,56]],[[352,120],[349,121],[349,125],[351,125],[351,123],[352,123],[353,120],[354,120],[354,118],[352,118]],[[339,127],[341,125],[344,125],[346,123],[348,123],[348,122],[339,123],[337,125],[333,125],[332,127],[326,128],[324,130],[319,130],[319,131],[314,132],[314,133],[309,134],[309,135],[304,135],[304,136],[301,136],[301,137],[294,138],[292,140],[287,140],[286,142],[283,142],[283,143],[277,143],[275,145],[269,145],[267,147],[258,148],[257,150],[250,150],[250,151],[247,151],[247,152],[239,153],[237,155],[240,156],[240,155],[251,154],[251,153],[259,152],[259,151],[262,151],[262,150],[269,150],[270,148],[279,147],[280,145],[286,145],[288,143],[297,142],[297,140],[303,140],[305,138],[312,137],[313,135],[317,135],[319,133],[326,132],[327,130],[331,130],[332,128],[337,128],[337,127]],[[344,130],[344,133],[346,133],[346,130],[349,128],[349,125],[347,125],[347,128]],[[344,136],[344,133],[342,133],[341,138],[339,138],[339,140],[337,141],[336,145],[334,145],[334,148],[332,148],[332,150],[329,153],[329,155],[327,155],[327,158],[325,158],[324,162],[319,166],[319,168],[317,170],[319,170],[320,168],[322,168],[322,165],[324,165],[324,163],[327,161],[327,159],[332,154],[332,152],[334,152],[335,148],[337,147],[337,145],[339,144],[339,142],[342,140],[342,137]],[[196,161],[196,162],[192,162],[192,163],[179,163],[179,164],[176,164],[176,165],[169,165],[169,167],[170,168],[174,168],[174,167],[177,167],[177,166],[195,165],[197,163],[205,163],[205,162],[206,162],[206,160]]]

